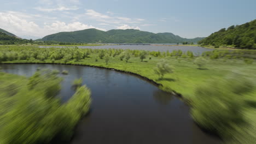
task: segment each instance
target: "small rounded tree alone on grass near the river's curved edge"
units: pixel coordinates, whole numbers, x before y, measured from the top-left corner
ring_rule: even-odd
[[[161,59],[161,61],[158,64],[156,64],[154,73],[159,75],[159,77],[162,79],[165,74],[173,73],[173,70],[167,61],[165,61],[164,59]]]

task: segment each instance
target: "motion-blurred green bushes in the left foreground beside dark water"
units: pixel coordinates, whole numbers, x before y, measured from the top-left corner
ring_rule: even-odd
[[[37,71],[29,79],[1,73],[0,80],[0,143],[68,141],[90,108],[86,86],[61,104],[56,98],[61,78],[49,70]]]

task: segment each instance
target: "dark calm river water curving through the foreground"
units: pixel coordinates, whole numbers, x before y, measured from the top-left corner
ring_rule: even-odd
[[[61,98],[74,93],[71,82],[82,77],[92,92],[90,115],[75,130],[73,144],[82,143],[220,143],[192,121],[189,107],[136,76],[77,65],[6,64],[7,73],[31,76],[37,68],[68,70]]]

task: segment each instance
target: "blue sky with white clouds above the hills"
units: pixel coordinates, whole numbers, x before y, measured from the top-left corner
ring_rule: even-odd
[[[0,28],[38,39],[96,28],[207,37],[256,19],[255,0],[0,0]]]

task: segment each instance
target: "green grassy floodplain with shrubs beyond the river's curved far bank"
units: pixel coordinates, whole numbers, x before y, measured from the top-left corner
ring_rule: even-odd
[[[89,51],[89,55],[83,57],[83,53],[87,51]],[[120,61],[121,55],[126,52],[130,53],[129,62]],[[102,53],[102,59],[100,53]],[[143,59],[151,59],[142,62],[141,53],[144,53]],[[107,65],[104,59],[106,55],[109,56]],[[160,83],[162,85],[160,88],[166,92],[181,93],[183,99],[193,107],[193,118],[201,127],[217,133],[223,137],[224,141],[233,142],[236,139],[235,141],[243,141],[242,143],[256,140],[254,136],[256,133],[256,117],[254,115],[256,89],[251,87],[256,85],[255,56],[256,51],[241,50],[207,51],[198,57],[194,56],[192,52],[184,53],[181,50],[159,52],[0,46],[2,63],[91,65],[147,77]],[[165,59],[165,62],[161,62],[161,59]],[[205,67],[201,67],[203,66],[201,61],[204,60],[207,61],[207,69],[202,70]],[[197,69],[199,65],[195,65],[197,61],[200,63],[200,69]],[[247,64],[248,61],[252,63]],[[169,65],[175,68],[174,73],[171,73],[172,69],[169,68]],[[234,76],[230,76],[234,71],[239,74],[235,76],[236,79],[232,78]],[[248,79],[250,81],[247,81]],[[218,89],[221,91],[219,92]],[[222,91],[222,89],[224,90]],[[202,103],[200,99],[202,99]],[[235,108],[237,106],[237,110],[234,105]],[[211,109],[207,109],[207,106],[211,106]],[[237,113],[237,115],[233,116],[231,113]],[[217,117],[217,119],[213,117]],[[225,118],[222,119],[222,117]]]

